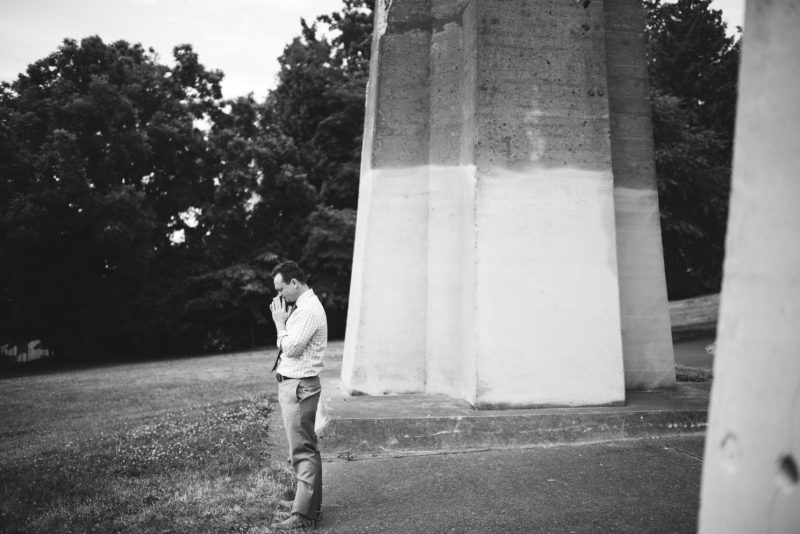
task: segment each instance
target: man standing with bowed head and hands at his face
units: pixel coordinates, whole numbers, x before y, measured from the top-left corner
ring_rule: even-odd
[[[278,331],[278,357],[272,370],[278,379],[278,401],[297,481],[294,501],[279,503],[292,515],[272,528],[314,528],[322,506],[322,458],[314,423],[321,392],[319,373],[328,344],[328,321],[295,262],[276,266],[272,277],[278,293],[270,304]]]

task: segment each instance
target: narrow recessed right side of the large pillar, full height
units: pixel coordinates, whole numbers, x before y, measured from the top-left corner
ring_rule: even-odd
[[[627,389],[675,385],[640,0],[605,0],[622,354]]]

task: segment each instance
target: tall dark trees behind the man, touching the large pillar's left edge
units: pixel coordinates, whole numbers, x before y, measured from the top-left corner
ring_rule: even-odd
[[[198,269],[172,297],[174,330],[188,339],[198,338],[198,325],[213,334],[206,348],[269,338],[268,273],[285,259],[308,269],[330,335],[344,334],[372,8],[372,1],[345,0],[311,26],[301,20],[267,100],[224,102],[214,115],[214,193],[181,245],[194,251]]]

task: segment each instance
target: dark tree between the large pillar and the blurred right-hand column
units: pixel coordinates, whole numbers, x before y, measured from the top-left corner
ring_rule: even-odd
[[[710,0],[645,0],[667,289],[720,290],[741,39]]]

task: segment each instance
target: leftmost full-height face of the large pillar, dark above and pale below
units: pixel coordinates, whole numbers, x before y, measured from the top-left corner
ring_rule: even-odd
[[[431,43],[429,0],[376,4],[342,364],[372,395],[425,390]]]

